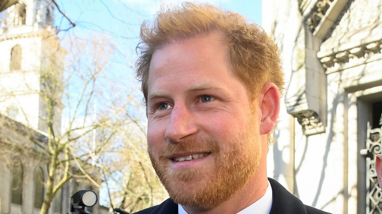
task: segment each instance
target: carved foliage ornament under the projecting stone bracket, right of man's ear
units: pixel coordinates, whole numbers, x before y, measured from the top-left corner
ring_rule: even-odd
[[[322,123],[319,115],[316,112],[312,110],[306,110],[293,116],[297,118],[297,121],[302,126],[303,133],[306,136],[325,132],[324,123]]]

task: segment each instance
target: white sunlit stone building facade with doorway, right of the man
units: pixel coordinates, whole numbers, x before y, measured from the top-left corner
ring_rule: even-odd
[[[382,213],[382,1],[262,3],[286,75],[269,177],[328,212]]]

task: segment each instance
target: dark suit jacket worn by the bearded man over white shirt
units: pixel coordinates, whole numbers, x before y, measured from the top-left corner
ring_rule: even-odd
[[[270,214],[330,214],[311,206],[304,205],[296,196],[292,195],[276,180],[268,178],[272,187],[272,208]],[[178,214],[178,204],[171,198],[163,203],[136,212],[136,214]]]

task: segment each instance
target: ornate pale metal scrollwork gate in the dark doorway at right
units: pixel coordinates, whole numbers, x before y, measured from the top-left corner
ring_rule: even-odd
[[[381,117],[382,119],[382,117]],[[381,128],[368,124],[366,149],[360,151],[366,157],[366,213],[382,214],[382,190],[378,185],[375,169],[376,155],[381,153]]]

